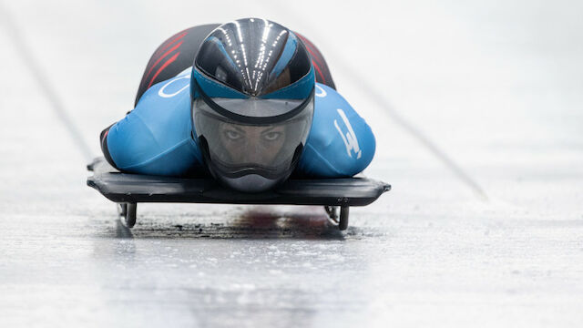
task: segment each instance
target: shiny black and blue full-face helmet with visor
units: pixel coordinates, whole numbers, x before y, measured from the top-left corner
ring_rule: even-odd
[[[312,127],[315,77],[302,41],[265,19],[213,30],[194,59],[193,128],[210,173],[246,192],[295,169]]]

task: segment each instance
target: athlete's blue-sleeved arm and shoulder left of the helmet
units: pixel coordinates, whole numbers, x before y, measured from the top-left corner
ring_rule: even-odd
[[[148,88],[134,110],[101,133],[101,146],[121,171],[181,176],[202,167],[191,126],[187,72]]]

